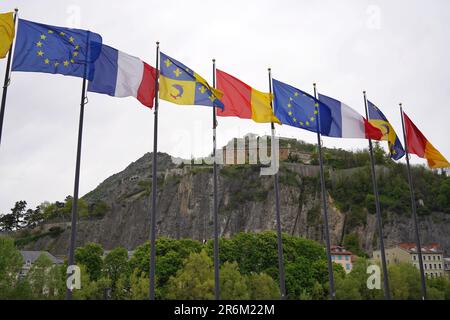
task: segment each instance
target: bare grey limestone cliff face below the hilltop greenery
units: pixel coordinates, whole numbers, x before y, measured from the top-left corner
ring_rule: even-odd
[[[176,165],[173,159],[158,153],[158,236],[192,238],[213,237],[212,167]],[[145,154],[84,196],[91,203],[105,201],[110,210],[101,219],[78,221],[77,245],[97,242],[106,250],[123,246],[133,250],[149,239],[151,205],[152,155]],[[260,176],[258,166],[219,166],[219,221],[221,236],[237,232],[276,230],[274,180]],[[284,232],[323,241],[323,214],[320,209],[318,167],[282,163],[279,173],[281,220]],[[367,214],[363,225],[349,229],[346,214],[340,212],[330,196],[328,213],[332,244],[344,234],[356,233],[362,249],[377,249],[376,217]],[[409,208],[405,208],[409,210]],[[411,214],[386,213],[384,223],[387,246],[401,241],[414,241]],[[52,222],[64,229],[57,238],[43,237],[27,245],[27,249],[49,250],[64,255],[68,251],[70,223]],[[45,225],[41,228],[48,229]],[[450,217],[433,213],[420,219],[423,243],[439,242],[448,252]]]

